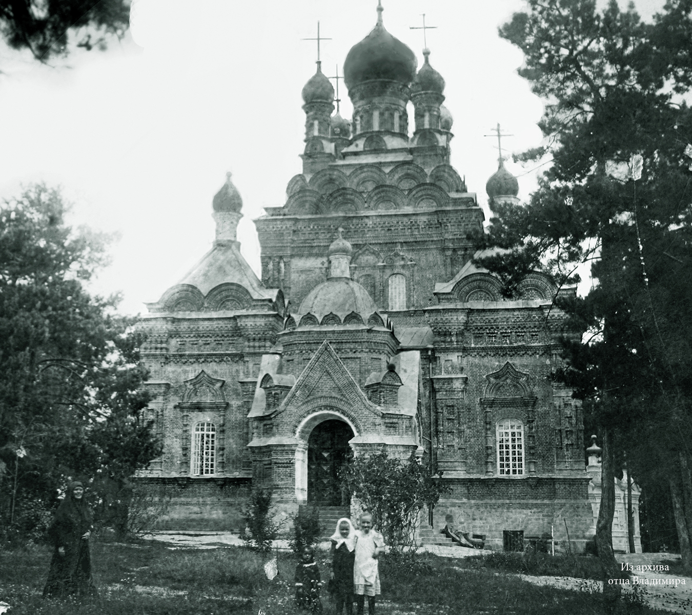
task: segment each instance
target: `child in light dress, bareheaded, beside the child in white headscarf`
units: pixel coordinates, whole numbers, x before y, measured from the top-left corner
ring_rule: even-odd
[[[374,615],[375,596],[380,592],[380,573],[377,559],[384,551],[384,540],[379,532],[372,529],[372,515],[361,515],[361,529],[356,532],[356,560],[353,567],[354,594],[356,594],[357,614],[363,615],[365,596],[367,612]]]

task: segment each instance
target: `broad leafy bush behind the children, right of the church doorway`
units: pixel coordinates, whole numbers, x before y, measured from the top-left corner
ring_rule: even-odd
[[[342,479],[394,551],[417,548],[415,529],[421,509],[435,506],[447,490],[413,454],[406,461],[386,452],[354,457],[343,466]]]

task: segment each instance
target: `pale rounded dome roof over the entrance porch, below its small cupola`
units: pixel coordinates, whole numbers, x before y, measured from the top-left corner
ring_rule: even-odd
[[[320,321],[329,313],[334,313],[343,320],[347,314],[355,312],[361,315],[363,322],[367,322],[376,311],[377,306],[370,293],[358,282],[342,277],[328,279],[315,286],[302,300],[299,312],[314,314]]]

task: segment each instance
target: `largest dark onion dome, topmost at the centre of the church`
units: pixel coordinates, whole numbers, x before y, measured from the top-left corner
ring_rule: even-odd
[[[382,7],[372,32],[352,46],[344,62],[344,83],[353,86],[373,79],[388,79],[404,85],[416,76],[418,62],[410,48],[385,30]]]

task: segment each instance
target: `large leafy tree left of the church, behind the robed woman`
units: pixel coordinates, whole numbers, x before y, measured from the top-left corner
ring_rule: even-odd
[[[68,211],[42,184],[0,208],[0,517],[20,529],[29,502],[51,508],[82,479],[124,531],[129,477],[161,452],[142,414],[143,338],[118,297],[84,288],[109,237],[71,228]]]

